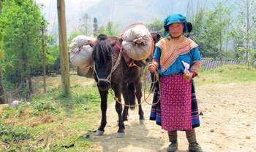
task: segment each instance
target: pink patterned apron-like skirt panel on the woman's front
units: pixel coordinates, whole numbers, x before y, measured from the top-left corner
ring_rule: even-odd
[[[184,131],[192,129],[191,123],[191,81],[182,74],[162,76],[161,110],[162,129]]]

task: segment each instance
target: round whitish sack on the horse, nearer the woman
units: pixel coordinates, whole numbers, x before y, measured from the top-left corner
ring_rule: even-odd
[[[142,23],[129,25],[124,30],[122,39],[121,47],[133,60],[145,60],[153,51],[153,39],[146,25]]]

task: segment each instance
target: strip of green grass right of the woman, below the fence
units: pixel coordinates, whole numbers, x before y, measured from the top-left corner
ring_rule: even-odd
[[[256,69],[244,65],[223,65],[209,71],[200,71],[195,78],[197,86],[208,84],[246,83],[256,81]]]

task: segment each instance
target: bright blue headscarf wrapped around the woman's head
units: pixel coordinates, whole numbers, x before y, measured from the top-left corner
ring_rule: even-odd
[[[183,32],[187,32],[187,19],[181,14],[173,14],[164,20],[165,36],[170,35],[169,26],[173,23],[184,23]]]

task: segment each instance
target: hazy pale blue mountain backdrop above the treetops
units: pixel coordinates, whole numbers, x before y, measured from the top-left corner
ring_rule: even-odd
[[[49,21],[48,32],[58,33],[56,1],[36,1],[45,4],[42,12]],[[118,23],[122,29],[131,23],[163,20],[171,13],[181,13],[189,20],[200,7],[212,9],[219,1],[221,0],[66,0],[67,33],[69,35],[78,29],[80,19],[86,14],[91,18],[91,22],[97,17],[99,26],[113,22]],[[222,3],[231,6],[239,1],[241,0],[226,0]]]

